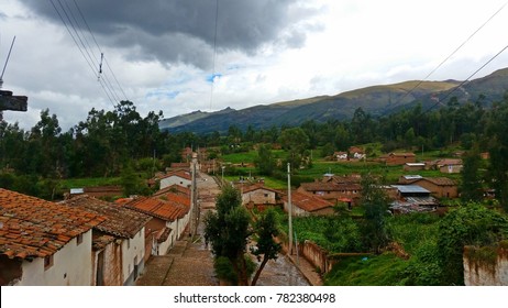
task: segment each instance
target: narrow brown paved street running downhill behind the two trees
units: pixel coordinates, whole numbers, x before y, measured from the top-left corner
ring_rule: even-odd
[[[139,286],[218,286],[213,271],[213,255],[205,245],[202,218],[216,207],[220,187],[213,177],[199,173],[197,176],[200,219],[198,233],[192,239],[178,241],[167,255],[152,256],[145,264]],[[294,257],[296,258],[296,256]],[[286,255],[266,264],[257,282],[258,286],[309,286],[320,285],[319,275],[305,260],[298,262],[300,270]],[[303,275],[305,273],[305,275]]]

